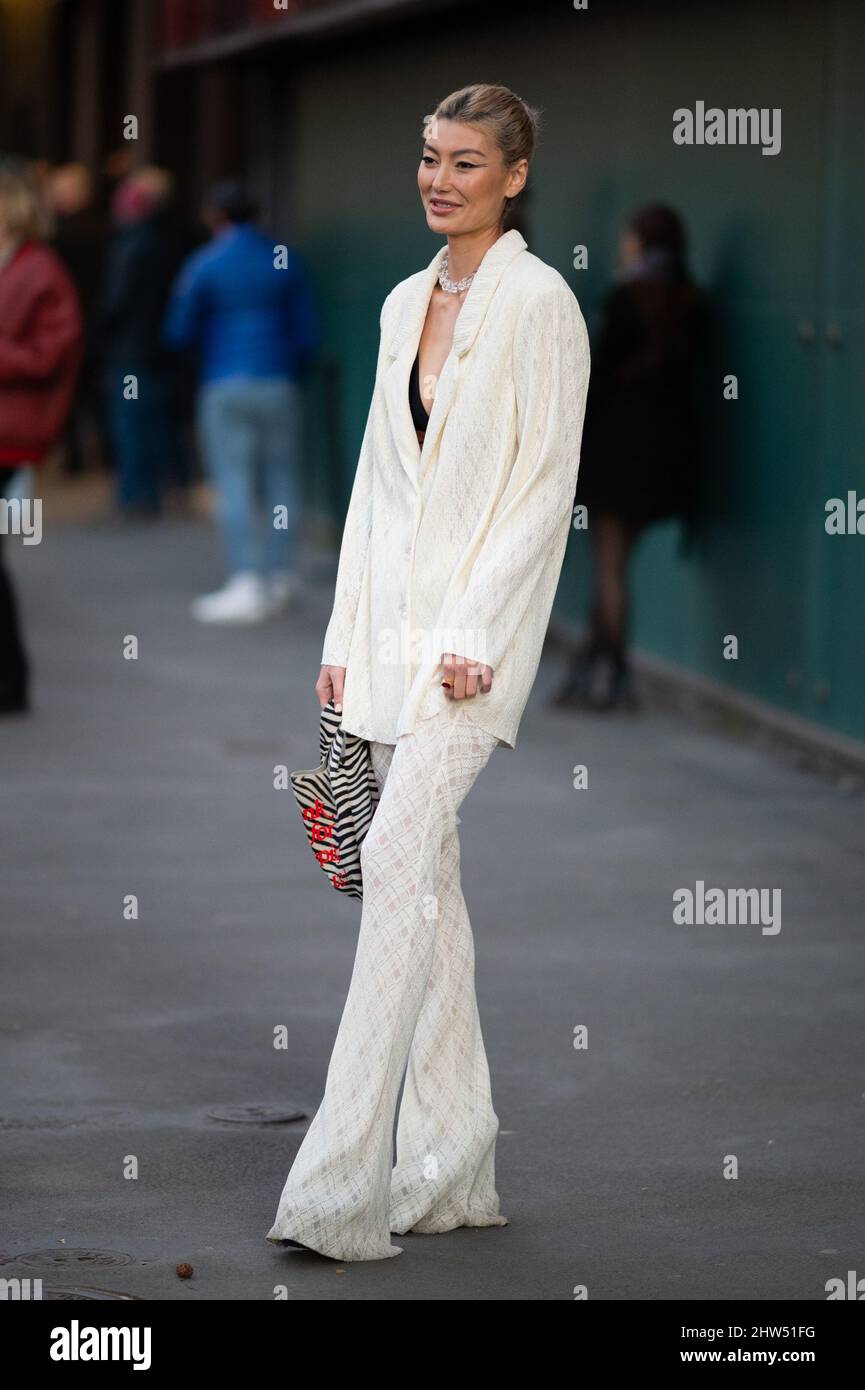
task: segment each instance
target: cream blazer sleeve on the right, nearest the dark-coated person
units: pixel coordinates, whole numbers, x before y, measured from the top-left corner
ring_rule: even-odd
[[[444,623],[469,660],[499,666],[555,549],[565,559],[590,377],[588,332],[567,285],[533,297],[513,339],[517,452],[463,595]],[[444,655],[444,653],[442,653]]]

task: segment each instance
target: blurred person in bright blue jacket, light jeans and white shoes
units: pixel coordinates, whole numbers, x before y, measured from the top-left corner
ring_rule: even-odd
[[[199,354],[197,432],[228,560],[224,587],[192,613],[260,623],[300,591],[300,378],[318,318],[300,259],[259,231],[239,182],[214,185],[202,215],[213,239],[184,263],[163,329],[171,348]]]

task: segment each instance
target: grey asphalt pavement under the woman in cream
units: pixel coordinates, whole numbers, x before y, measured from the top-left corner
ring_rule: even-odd
[[[202,521],[8,550],[36,678],[0,723],[0,1275],[160,1300],[823,1300],[865,1275],[861,796],[663,710],[551,709],[555,660],[460,810],[509,1225],[362,1264],[266,1243],[359,919],[273,787],[317,760],[332,564],[296,612],[209,630]],[[676,923],[698,880],[780,890],[780,930]],[[306,1119],[210,1116],[256,1105]]]

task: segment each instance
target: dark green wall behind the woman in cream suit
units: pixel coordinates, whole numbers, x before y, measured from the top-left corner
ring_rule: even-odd
[[[705,520],[687,555],[677,523],[647,535],[633,569],[634,642],[865,738],[865,535],[823,525],[827,498],[865,495],[864,40],[855,0],[585,13],[535,3],[466,6],[274,54],[285,122],[275,143],[332,366],[310,386],[312,505],[334,485],[348,498],[381,300],[441,245],[416,186],[423,115],[466,82],[505,82],[542,108],[530,249],[567,278],[590,327],[620,220],[649,199],[686,215],[693,268],[715,303]],[[676,146],[672,113],[697,100],[780,107],[782,152]],[[588,246],[587,271],[572,267],[576,243]],[[738,377],[737,402],[722,400],[726,373]],[[588,539],[574,534],[558,610],[581,617],[587,584]],[[736,662],[722,657],[730,632]]]

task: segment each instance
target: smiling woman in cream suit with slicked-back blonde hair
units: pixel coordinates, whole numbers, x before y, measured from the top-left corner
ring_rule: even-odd
[[[505,231],[535,120],[487,83],[426,118],[419,188],[446,243],[381,310],[316,685],[369,739],[381,799],[324,1098],[266,1238],[342,1261],[401,1254],[391,1233],[506,1225],[458,812],[492,751],[516,744],[590,373],[572,289]]]

